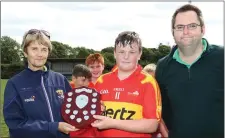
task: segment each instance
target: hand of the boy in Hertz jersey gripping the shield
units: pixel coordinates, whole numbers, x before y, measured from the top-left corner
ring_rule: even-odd
[[[115,119],[110,117],[102,116],[102,115],[94,115],[93,116],[96,120],[91,124],[93,127],[98,129],[110,129],[113,128],[114,123],[116,122]]]

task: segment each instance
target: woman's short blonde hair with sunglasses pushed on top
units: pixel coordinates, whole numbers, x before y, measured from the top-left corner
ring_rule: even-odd
[[[27,47],[30,43],[37,41],[38,44],[42,44],[48,47],[49,53],[52,51],[52,44],[50,41],[50,35],[47,31],[31,29],[27,31],[23,36],[22,50],[27,53]]]

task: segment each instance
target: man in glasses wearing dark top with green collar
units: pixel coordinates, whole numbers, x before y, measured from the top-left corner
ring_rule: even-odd
[[[157,64],[162,117],[171,138],[224,136],[224,48],[203,37],[202,12],[178,8],[172,18],[176,46]]]

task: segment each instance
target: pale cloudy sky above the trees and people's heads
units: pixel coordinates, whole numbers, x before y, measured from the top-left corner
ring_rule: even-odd
[[[174,45],[171,19],[188,2],[1,2],[1,36],[21,44],[32,28],[50,32],[52,41],[101,50],[122,31],[135,31],[146,48]],[[192,2],[203,12],[205,38],[223,45],[223,2]]]

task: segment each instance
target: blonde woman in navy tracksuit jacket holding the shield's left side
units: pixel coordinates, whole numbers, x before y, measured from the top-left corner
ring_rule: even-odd
[[[74,126],[62,121],[64,93],[71,90],[67,79],[49,70],[50,35],[31,29],[22,42],[26,68],[10,78],[4,92],[3,114],[12,138],[66,138]]]

